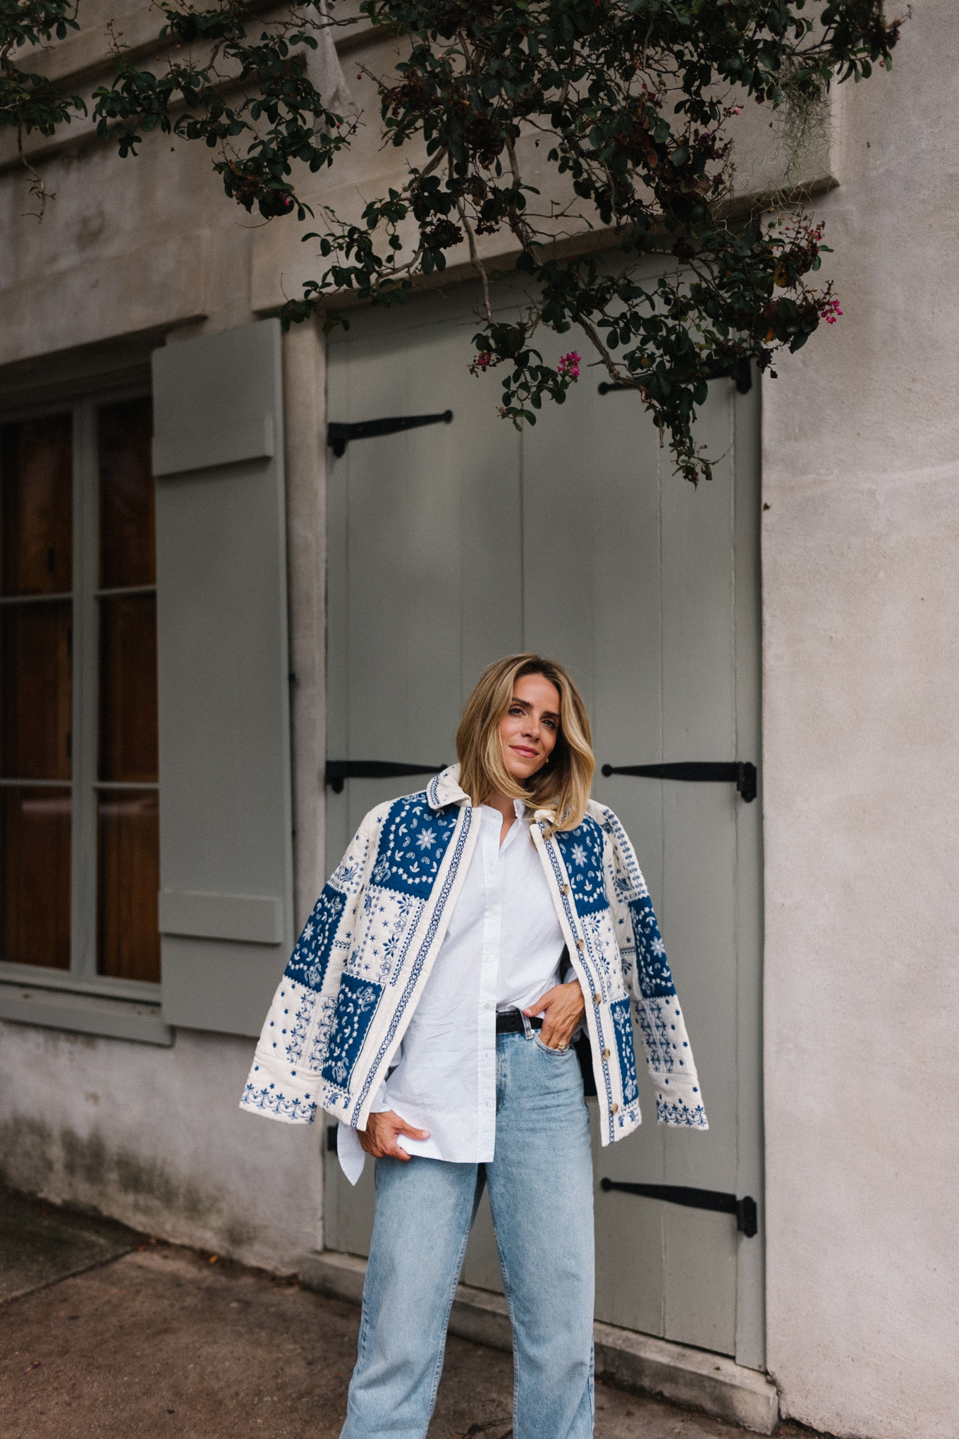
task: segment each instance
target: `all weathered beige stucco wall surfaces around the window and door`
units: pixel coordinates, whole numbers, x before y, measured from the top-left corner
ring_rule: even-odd
[[[893,75],[843,88],[832,155],[809,161],[841,180],[815,209],[845,314],[763,381],[768,1353],[808,1423],[955,1439],[959,12],[913,10]],[[329,183],[382,164],[370,131]],[[239,325],[295,292],[298,227],[224,200],[204,147],[118,161],[81,140],[43,173],[39,227],[23,174],[0,176],[0,364]],[[745,157],[740,176],[769,180]],[[315,332],[289,338],[285,380],[302,915],[322,871]],[[239,1114],[250,1049],[1,1026],[4,1177],[293,1268],[321,1238],[321,1134]]]

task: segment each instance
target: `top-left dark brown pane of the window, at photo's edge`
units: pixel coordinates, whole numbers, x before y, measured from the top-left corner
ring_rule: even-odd
[[[0,429],[3,593],[66,594],[73,587],[70,416]]]

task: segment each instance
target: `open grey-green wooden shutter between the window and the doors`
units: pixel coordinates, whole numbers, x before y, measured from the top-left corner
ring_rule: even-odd
[[[152,360],[162,1014],[259,1035],[293,945],[279,321]]]

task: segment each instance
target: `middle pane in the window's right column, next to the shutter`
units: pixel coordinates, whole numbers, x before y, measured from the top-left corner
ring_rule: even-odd
[[[99,777],[157,780],[157,599],[102,599]]]

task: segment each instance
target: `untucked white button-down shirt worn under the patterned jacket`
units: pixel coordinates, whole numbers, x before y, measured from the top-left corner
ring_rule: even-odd
[[[496,1012],[526,1009],[559,984],[562,930],[520,800],[502,846],[502,814],[477,809],[480,835],[449,930],[374,1111],[394,1109],[428,1140],[410,1154],[459,1164],[493,1158]],[[339,1163],[355,1184],[364,1153],[339,1125]]]

